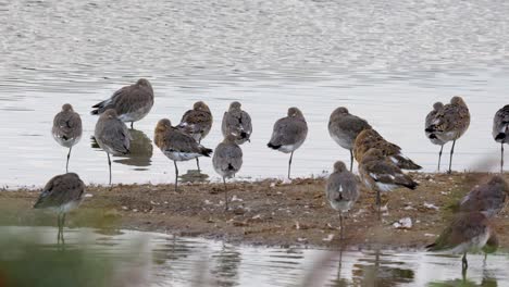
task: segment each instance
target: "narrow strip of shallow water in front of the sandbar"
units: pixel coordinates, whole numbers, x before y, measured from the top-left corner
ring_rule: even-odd
[[[9,235],[25,239],[35,236],[39,238],[40,248],[54,249],[55,254],[61,252],[54,245],[55,228],[2,227],[2,236]],[[460,258],[422,251],[265,248],[129,230],[108,235],[94,229],[65,229],[64,235],[66,251],[83,249],[89,257],[119,260],[122,263],[114,272],[136,277],[139,286],[509,284],[509,254],[504,253],[489,255],[486,262],[483,255],[469,255],[470,267],[463,278]]]

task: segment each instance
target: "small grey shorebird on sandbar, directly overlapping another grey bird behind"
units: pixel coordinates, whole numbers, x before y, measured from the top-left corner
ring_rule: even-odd
[[[235,176],[243,166],[243,150],[236,144],[237,137],[226,135],[223,142],[219,144],[212,157],[215,172],[223,177],[225,210],[228,210],[228,196],[226,178]]]

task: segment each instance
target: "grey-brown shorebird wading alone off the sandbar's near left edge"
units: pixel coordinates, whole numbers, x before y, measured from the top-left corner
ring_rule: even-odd
[[[57,242],[64,242],[65,214],[76,209],[83,200],[85,184],[75,173],[57,175],[46,184],[34,209],[50,209],[58,214],[59,233]]]

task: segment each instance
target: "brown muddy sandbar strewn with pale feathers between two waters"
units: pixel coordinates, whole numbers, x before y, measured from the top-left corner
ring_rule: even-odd
[[[454,216],[455,205],[487,174],[454,173],[412,176],[417,190],[386,194],[383,222],[376,220],[374,192],[361,198],[345,221],[344,242],[351,248],[421,249],[431,244]],[[509,179],[509,176],[506,176]],[[228,184],[231,211],[224,212],[222,184],[89,186],[82,207],[67,216],[70,227],[131,228],[181,236],[201,236],[268,246],[336,247],[338,213],[324,197],[324,178],[291,183],[265,179]],[[32,209],[39,190],[0,191],[1,225],[54,225],[48,212]],[[410,228],[394,223],[410,217]],[[494,220],[500,246],[509,247],[509,212]]]

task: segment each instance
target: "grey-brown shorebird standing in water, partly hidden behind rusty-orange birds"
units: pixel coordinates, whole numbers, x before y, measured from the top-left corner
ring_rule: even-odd
[[[350,151],[350,172],[353,169],[353,142],[362,130],[371,128],[364,118],[350,114],[345,107],[337,108],[331,114],[328,134],[337,145]]]

